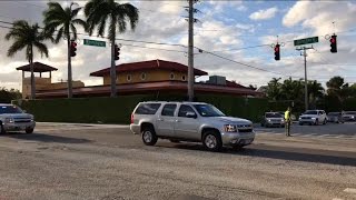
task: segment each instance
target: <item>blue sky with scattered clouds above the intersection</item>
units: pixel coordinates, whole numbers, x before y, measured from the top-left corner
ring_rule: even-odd
[[[47,8],[42,1],[0,1],[0,19],[12,21],[27,19],[41,23],[41,13]],[[71,1],[60,1],[68,6]],[[86,1],[77,1],[85,6]],[[164,42],[170,44],[188,44],[188,24],[185,20],[188,6],[181,1],[129,1],[140,10],[140,21],[135,32],[127,31],[118,36],[121,60],[135,62],[151,59],[164,59],[187,64],[187,48],[177,46],[152,44],[137,41]],[[253,66],[263,70],[220,59],[209,53],[195,56],[195,67],[209,74],[226,76],[241,84],[266,84],[274,77],[283,79],[291,76],[295,79],[304,77],[304,62],[300,52],[293,46],[293,40],[319,36],[315,50],[308,51],[308,77],[323,84],[333,76],[343,76],[347,82],[356,82],[356,2],[355,1],[222,1],[201,0],[195,4],[200,12],[196,14],[199,22],[195,24],[195,46],[205,51]],[[82,13],[81,13],[81,17]],[[335,28],[333,26],[335,21]],[[2,24],[2,23],[0,23]],[[20,89],[21,74],[16,67],[24,64],[23,53],[7,58],[9,42],[3,40],[8,30],[0,29],[0,79],[4,87]],[[326,34],[338,34],[338,53],[329,52],[329,41]],[[80,30],[80,32],[83,32]],[[270,44],[276,43],[277,36],[281,47],[280,61],[274,60]],[[78,56],[73,59],[73,79],[82,80],[87,86],[100,84],[100,78],[91,78],[89,73],[110,66],[109,48],[92,48],[82,46],[82,39],[97,39],[82,36],[78,42]],[[105,40],[105,39],[100,39]],[[266,44],[263,47],[250,48]],[[134,47],[136,46],[136,47]],[[50,58],[37,57],[37,61],[52,64],[59,70],[53,74],[53,81],[66,80],[67,59],[66,42],[58,46],[49,43]],[[236,50],[240,49],[240,50]],[[169,51],[167,51],[169,50]],[[202,77],[198,80],[205,80]]]

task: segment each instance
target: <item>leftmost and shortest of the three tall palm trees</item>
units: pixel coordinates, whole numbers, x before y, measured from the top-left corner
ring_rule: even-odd
[[[52,40],[52,34],[40,31],[38,23],[30,26],[24,20],[18,20],[13,22],[11,30],[4,37],[7,40],[12,39],[13,43],[8,50],[8,57],[13,57],[18,51],[26,48],[26,58],[30,63],[31,69],[31,99],[36,98],[36,84],[33,76],[33,48],[48,58],[48,48],[43,41]]]

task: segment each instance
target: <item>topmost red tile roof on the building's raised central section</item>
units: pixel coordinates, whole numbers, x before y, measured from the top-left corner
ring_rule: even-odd
[[[167,70],[167,71],[179,71],[179,72],[188,72],[188,67],[178,62],[170,62],[165,60],[149,60],[142,62],[131,62],[131,63],[122,63],[116,67],[117,72],[128,72],[128,71],[142,71],[142,70]],[[196,76],[206,76],[208,74],[206,71],[195,69],[194,73]],[[96,72],[91,72],[92,77],[103,77],[110,74],[110,68],[106,68]]]

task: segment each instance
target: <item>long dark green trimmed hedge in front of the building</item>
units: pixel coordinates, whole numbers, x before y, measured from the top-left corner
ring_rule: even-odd
[[[130,114],[140,101],[184,101],[182,96],[120,96],[118,98],[75,98],[13,101],[34,114],[37,121],[77,123],[129,123]],[[209,102],[227,116],[259,121],[267,110],[266,99],[230,96],[197,96],[197,101]]]

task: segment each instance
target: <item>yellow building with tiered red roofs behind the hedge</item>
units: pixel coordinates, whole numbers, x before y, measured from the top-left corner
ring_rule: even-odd
[[[165,60],[148,60],[141,62],[121,63],[116,67],[117,91],[119,96],[142,93],[175,93],[187,94],[188,67],[178,62]],[[208,76],[208,72],[194,69],[195,77]],[[76,87],[73,97],[108,97],[110,96],[110,68],[90,73],[91,77],[102,78],[101,86]],[[225,77],[211,76],[209,81],[196,82],[195,93],[216,93],[230,96],[261,97],[263,93],[246,88]],[[36,94],[39,99],[66,98],[67,88],[41,88]]]

